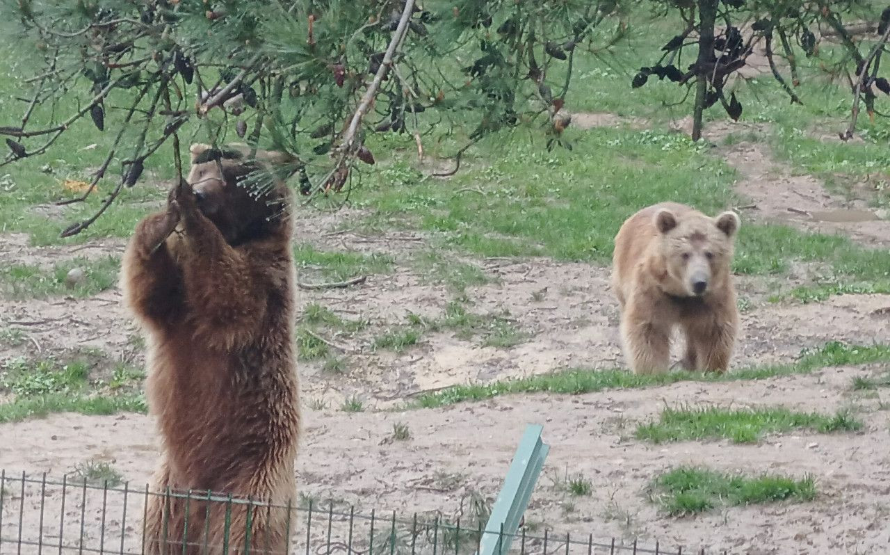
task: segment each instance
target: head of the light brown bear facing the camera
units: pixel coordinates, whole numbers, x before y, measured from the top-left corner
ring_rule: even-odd
[[[677,215],[670,208],[660,208],[654,218],[665,269],[680,289],[691,297],[701,297],[724,285],[740,226],[735,212],[712,218],[695,211]]]

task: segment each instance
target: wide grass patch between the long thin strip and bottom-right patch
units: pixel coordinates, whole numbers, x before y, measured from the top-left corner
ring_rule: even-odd
[[[834,415],[793,412],[784,407],[730,410],[710,406],[696,409],[666,408],[658,420],[639,424],[635,437],[653,443],[701,439],[730,439],[732,443],[756,443],[766,434],[809,429],[822,434],[858,431],[862,422],[849,412]]]

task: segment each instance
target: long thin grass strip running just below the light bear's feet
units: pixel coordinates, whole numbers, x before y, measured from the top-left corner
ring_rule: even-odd
[[[723,375],[672,371],[657,375],[637,375],[624,370],[567,370],[490,384],[460,385],[417,396],[408,408],[433,408],[465,401],[480,401],[518,393],[578,395],[603,389],[649,388],[678,381],[764,380],[775,376],[804,374],[831,366],[890,361],[890,346],[855,346],[832,341],[812,351],[804,351],[795,363],[741,368]]]

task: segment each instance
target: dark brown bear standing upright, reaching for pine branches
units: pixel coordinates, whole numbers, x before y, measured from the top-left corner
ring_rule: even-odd
[[[245,182],[292,160],[190,151],[122,268],[162,440],[144,541],[155,555],[283,555],[300,430],[289,193],[280,175]]]

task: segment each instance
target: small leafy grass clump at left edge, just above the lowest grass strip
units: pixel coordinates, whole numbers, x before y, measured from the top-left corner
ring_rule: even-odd
[[[0,388],[16,397],[77,392],[85,388],[89,371],[89,365],[80,361],[63,364],[17,358],[0,368]]]

